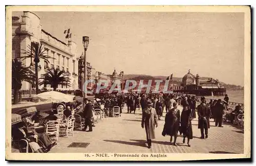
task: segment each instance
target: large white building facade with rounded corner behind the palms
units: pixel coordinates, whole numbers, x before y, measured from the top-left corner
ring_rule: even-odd
[[[47,72],[47,69],[59,69],[65,71],[71,80],[70,87],[61,87],[59,89],[77,89],[78,88],[78,60],[77,45],[69,38],[68,43],[62,42],[50,33],[42,29],[40,18],[33,12],[24,12],[22,16],[12,17],[12,59],[19,59],[26,56],[24,50],[28,50],[32,42],[41,43],[46,49],[48,56],[55,58],[47,61],[40,60],[38,64],[38,78]],[[23,64],[30,66],[33,59],[26,59]],[[34,70],[32,68],[32,70]],[[39,89],[50,85],[39,86]],[[28,82],[22,82],[21,90],[29,90],[31,85]],[[33,88],[33,87],[32,87]]]

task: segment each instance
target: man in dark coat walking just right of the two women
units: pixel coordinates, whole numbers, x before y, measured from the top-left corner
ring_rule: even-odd
[[[205,138],[208,138],[208,128],[210,128],[210,107],[206,106],[206,103],[202,103],[198,109],[198,128],[201,130],[201,139],[204,139],[204,130]]]

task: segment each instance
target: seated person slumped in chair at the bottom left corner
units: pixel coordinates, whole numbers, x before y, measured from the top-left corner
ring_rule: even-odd
[[[15,126],[13,126],[12,136],[14,140],[22,140],[22,139],[27,140],[30,145],[29,152],[44,153],[40,148],[40,146],[37,144],[37,135],[29,134],[24,122],[20,122]],[[20,145],[20,146],[24,147],[24,145]]]

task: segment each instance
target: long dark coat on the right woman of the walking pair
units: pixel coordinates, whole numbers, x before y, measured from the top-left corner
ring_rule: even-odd
[[[193,139],[192,119],[193,117],[190,109],[182,110],[180,118],[180,132],[183,133],[184,136],[188,137],[188,139]]]

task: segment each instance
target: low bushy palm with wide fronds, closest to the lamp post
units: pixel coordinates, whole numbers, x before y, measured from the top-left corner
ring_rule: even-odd
[[[58,85],[70,87],[71,84],[68,75],[69,74],[65,74],[64,71],[48,69],[47,73],[42,74],[42,76],[39,78],[39,80],[42,80],[39,82],[39,85],[51,85],[53,91],[56,91]]]

